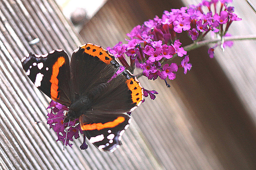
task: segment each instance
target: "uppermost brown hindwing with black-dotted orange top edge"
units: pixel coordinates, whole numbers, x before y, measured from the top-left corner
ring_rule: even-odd
[[[70,63],[75,99],[108,82],[119,67],[120,64],[114,56],[101,46],[92,43],[80,46],[72,54]]]

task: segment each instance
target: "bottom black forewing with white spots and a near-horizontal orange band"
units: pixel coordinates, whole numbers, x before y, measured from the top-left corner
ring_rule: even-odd
[[[122,145],[121,138],[131,117],[125,113],[87,113],[79,117],[84,135],[98,149],[113,152]]]

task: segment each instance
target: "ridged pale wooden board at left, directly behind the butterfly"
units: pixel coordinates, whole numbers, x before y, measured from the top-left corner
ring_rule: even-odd
[[[39,38],[39,43],[29,42]],[[132,122],[124,147],[114,153],[92,144],[80,150],[56,143],[46,119],[49,99],[25,75],[20,59],[29,52],[65,49],[69,55],[83,42],[52,0],[0,0],[0,166],[3,169],[159,169]],[[88,141],[87,141],[88,142]]]

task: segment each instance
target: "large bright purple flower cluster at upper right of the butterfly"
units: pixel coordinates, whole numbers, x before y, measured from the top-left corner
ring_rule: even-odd
[[[229,36],[227,31],[232,21],[241,20],[234,14],[234,7],[227,6],[230,2],[232,0],[203,0],[197,6],[164,11],[162,18],[156,16],[134,27],[127,34],[128,43],[119,42],[107,49],[131,72],[136,66],[150,80],[158,77],[165,82],[166,78],[173,80],[178,68],[184,68],[186,74],[192,67],[188,63],[187,51],[181,47],[180,34],[186,32],[193,41],[202,40],[210,31],[219,37]],[[220,45],[231,47],[232,41],[214,45],[208,51],[210,57],[213,57],[214,49]],[[184,57],[180,64],[171,63],[171,59],[176,56]],[[126,57],[130,58],[130,64]]]

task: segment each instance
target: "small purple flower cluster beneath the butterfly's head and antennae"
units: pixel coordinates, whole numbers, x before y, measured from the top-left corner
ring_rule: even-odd
[[[50,129],[52,128],[57,133],[57,141],[62,141],[64,145],[69,145],[71,147],[72,144],[70,144],[69,141],[73,141],[73,137],[74,139],[78,139],[80,137],[78,133],[79,131],[82,133],[78,119],[70,121],[69,124],[64,123],[64,112],[68,111],[68,107],[59,104],[54,100],[50,102],[50,105],[47,107],[47,109],[51,110],[47,115],[47,124],[50,125]],[[84,143],[80,146],[80,148],[86,149],[87,147],[88,146],[84,140]]]

